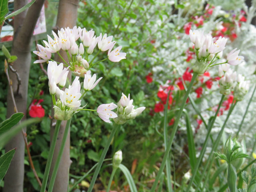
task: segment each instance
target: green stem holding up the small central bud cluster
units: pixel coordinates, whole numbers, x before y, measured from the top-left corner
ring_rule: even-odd
[[[116,130],[119,128],[119,126],[120,126],[120,125],[114,124],[114,127],[113,127],[113,129],[112,129],[112,131],[111,131],[111,133],[110,133],[110,136],[109,136],[109,138],[108,138],[108,141],[107,141],[107,143],[106,143],[106,146],[104,147],[104,150],[103,150],[103,152],[102,152],[102,154],[101,154],[101,156],[100,156],[99,164],[98,164],[97,167],[96,167],[96,170],[95,170],[95,172],[94,172],[94,174],[93,174],[92,181],[91,181],[91,183],[90,183],[90,186],[89,186],[87,192],[92,192],[92,188],[93,188],[93,186],[94,186],[94,184],[95,184],[95,181],[96,181],[96,178],[97,178],[97,176],[98,176],[98,174],[99,174],[99,172],[100,172],[100,168],[101,168],[101,166],[102,166],[103,160],[104,160],[104,158],[105,158],[105,156],[106,156],[106,154],[107,154],[107,151],[108,151],[108,148],[109,148],[109,146],[110,146],[110,143],[111,143],[111,141],[112,141],[112,139],[113,139],[113,137],[114,137],[114,135],[115,135],[115,133],[116,133]]]

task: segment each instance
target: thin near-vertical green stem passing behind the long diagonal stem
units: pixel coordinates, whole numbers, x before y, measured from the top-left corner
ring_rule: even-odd
[[[170,90],[171,91],[171,90]],[[167,134],[167,110],[168,110],[168,104],[169,104],[169,96],[170,96],[170,91],[168,92],[167,95],[167,100],[166,100],[166,105],[164,109],[164,150],[166,151],[167,147],[167,142],[168,142],[168,134]],[[167,191],[171,192],[172,191],[172,183],[171,183],[171,161],[170,161],[170,155],[167,157],[166,161],[166,176],[167,176]]]

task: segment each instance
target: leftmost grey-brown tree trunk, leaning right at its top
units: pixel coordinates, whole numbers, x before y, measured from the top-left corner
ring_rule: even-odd
[[[14,2],[14,10],[21,8],[27,3],[27,0],[16,0]],[[18,92],[16,92],[18,86],[16,75],[10,72],[10,79],[12,80],[12,87],[14,88],[14,96],[18,109],[14,110],[14,105],[10,97],[10,90],[8,90],[8,117],[16,111],[19,111],[23,112],[25,114],[24,119],[26,118],[28,77],[31,62],[30,41],[43,4],[44,0],[37,0],[27,12],[22,12],[14,18],[14,40],[12,42],[11,54],[18,57],[13,63],[13,68],[16,69],[20,75],[21,85]],[[9,151],[13,148],[16,148],[16,152],[4,178],[4,192],[23,192],[25,144],[22,132],[10,140],[5,149],[6,151]]]

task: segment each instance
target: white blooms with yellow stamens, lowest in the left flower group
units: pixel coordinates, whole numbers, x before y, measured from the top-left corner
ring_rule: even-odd
[[[68,86],[64,91],[61,90],[60,100],[64,106],[69,108],[78,108],[81,105],[81,93],[79,77],[76,76],[72,85]]]

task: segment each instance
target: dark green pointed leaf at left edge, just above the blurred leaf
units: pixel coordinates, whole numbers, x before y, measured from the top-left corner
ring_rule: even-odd
[[[14,113],[10,118],[0,124],[0,134],[15,126],[24,116],[24,113]]]

